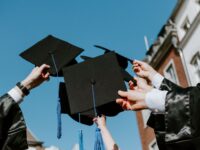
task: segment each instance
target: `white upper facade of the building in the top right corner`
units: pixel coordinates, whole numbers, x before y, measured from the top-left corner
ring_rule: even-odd
[[[200,82],[200,1],[180,0],[172,21],[176,25],[182,63],[190,86]]]

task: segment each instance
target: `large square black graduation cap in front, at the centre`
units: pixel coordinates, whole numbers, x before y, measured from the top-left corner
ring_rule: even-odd
[[[119,97],[117,91],[126,90],[115,53],[64,68],[63,74],[71,114],[81,112],[94,117],[94,106],[98,114],[104,113],[107,116],[123,111],[115,103]]]

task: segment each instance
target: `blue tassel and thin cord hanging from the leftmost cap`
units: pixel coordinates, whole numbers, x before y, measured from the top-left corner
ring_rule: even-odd
[[[55,61],[53,53],[49,52],[49,54],[51,55],[53,65],[54,65],[55,70],[56,70],[56,77],[57,77],[57,82],[58,82],[58,85],[59,85],[58,68],[56,66],[56,61]],[[57,102],[57,138],[60,139],[61,136],[62,136],[61,104],[60,104],[60,98],[58,98],[58,102]]]

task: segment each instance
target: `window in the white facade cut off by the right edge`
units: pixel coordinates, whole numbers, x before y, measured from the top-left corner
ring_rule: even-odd
[[[192,60],[191,65],[193,66],[195,81],[200,82],[200,52],[197,52]]]

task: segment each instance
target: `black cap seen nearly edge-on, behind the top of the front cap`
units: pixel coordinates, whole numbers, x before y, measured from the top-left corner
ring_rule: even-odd
[[[105,48],[103,46],[99,46],[99,45],[94,45],[96,48],[99,48],[99,49],[102,49],[105,51],[105,54],[106,53],[109,53],[109,52],[115,52],[115,50],[110,50],[108,48]],[[116,52],[115,52],[116,53]],[[128,62],[132,63],[133,61],[125,56],[122,56],[121,54],[117,54],[117,60],[119,62],[119,65],[123,68],[123,69],[126,69],[127,66],[128,66]]]

